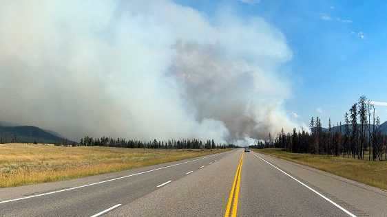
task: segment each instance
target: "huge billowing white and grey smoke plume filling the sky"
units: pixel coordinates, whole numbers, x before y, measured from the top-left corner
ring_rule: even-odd
[[[1,1],[0,120],[78,139],[262,138],[295,126],[284,36],[173,1]]]

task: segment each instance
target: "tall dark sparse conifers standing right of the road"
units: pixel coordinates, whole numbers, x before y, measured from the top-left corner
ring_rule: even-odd
[[[387,136],[380,130],[380,119],[375,117],[375,106],[362,95],[344,115],[344,123],[337,123],[335,130],[328,120],[328,128],[322,128],[319,117],[311,117],[310,131],[302,129],[285,133],[284,129],[277,137],[260,141],[253,148],[282,148],[289,152],[310,153],[316,155],[343,155],[368,160],[387,160]]]

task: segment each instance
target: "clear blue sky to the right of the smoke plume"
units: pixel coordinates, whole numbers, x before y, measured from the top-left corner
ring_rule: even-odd
[[[286,111],[308,123],[342,121],[360,95],[386,102],[386,1],[181,0],[211,18],[227,5],[239,16],[260,16],[286,37],[293,58],[283,66],[293,94]],[[387,107],[377,106],[381,122]],[[294,117],[295,118],[295,117]]]

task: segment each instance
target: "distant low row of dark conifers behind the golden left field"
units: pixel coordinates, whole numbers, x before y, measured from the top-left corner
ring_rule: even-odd
[[[213,139],[202,141],[200,139],[169,139],[153,141],[141,141],[136,139],[112,138],[112,137],[89,137],[81,139],[81,146],[107,146],[118,148],[159,148],[159,149],[216,149],[235,148],[232,144],[216,144]]]

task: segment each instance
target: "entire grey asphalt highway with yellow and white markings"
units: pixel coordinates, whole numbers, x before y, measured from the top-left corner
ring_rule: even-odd
[[[227,210],[230,216],[387,216],[387,192],[242,150],[0,190],[0,216],[224,216]]]

